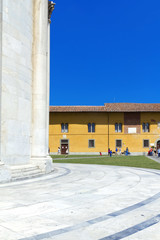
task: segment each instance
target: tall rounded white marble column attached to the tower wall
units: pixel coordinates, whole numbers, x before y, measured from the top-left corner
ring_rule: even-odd
[[[48,0],[34,0],[31,161],[45,166],[48,156]],[[50,164],[49,163],[49,164]],[[49,165],[48,165],[49,166]],[[51,166],[46,172],[50,171]]]

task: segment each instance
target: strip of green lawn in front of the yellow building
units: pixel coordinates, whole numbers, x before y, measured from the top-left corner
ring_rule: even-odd
[[[55,159],[55,158],[64,159]],[[90,158],[89,158],[90,157]],[[145,156],[81,156],[81,155],[69,155],[67,158],[62,155],[52,155],[53,162],[57,163],[81,163],[81,164],[100,164],[100,165],[114,165],[114,166],[128,166],[128,167],[138,167],[138,168],[151,168],[159,169],[160,163],[155,162]],[[72,159],[69,159],[72,158]]]

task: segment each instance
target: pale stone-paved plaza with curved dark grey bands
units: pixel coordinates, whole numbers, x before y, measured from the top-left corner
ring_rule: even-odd
[[[2,240],[159,240],[160,171],[56,163],[0,185]]]

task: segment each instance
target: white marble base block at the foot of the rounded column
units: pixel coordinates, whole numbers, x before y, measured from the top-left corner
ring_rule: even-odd
[[[30,163],[38,166],[44,173],[50,173],[53,171],[53,162],[50,156],[47,157],[33,157]]]

